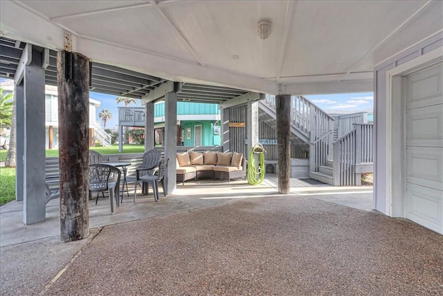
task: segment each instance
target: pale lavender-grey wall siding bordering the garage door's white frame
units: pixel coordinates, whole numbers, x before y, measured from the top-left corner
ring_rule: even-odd
[[[386,127],[390,114],[386,110],[386,72],[420,55],[441,48],[443,51],[443,33],[434,35],[428,40],[415,44],[394,58],[379,64],[374,69],[374,130],[375,130],[375,163],[374,163],[374,209],[386,214]],[[394,175],[395,172],[392,173]],[[392,213],[392,216],[397,216]]]

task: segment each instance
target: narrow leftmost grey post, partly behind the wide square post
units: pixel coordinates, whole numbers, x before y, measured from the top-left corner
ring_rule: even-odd
[[[24,81],[15,85],[15,200],[24,198],[25,89]],[[18,145],[17,145],[18,144]]]

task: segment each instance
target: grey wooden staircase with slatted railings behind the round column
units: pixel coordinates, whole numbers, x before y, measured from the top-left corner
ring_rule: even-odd
[[[365,112],[329,116],[303,96],[291,97],[291,143],[309,150],[309,177],[334,186],[361,184],[372,173],[372,124]],[[260,120],[276,130],[275,96],[259,105]]]

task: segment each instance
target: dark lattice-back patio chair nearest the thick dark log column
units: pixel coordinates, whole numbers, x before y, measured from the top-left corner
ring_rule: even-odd
[[[116,199],[117,207],[120,206],[120,177],[121,171],[115,166],[109,164],[90,164],[89,165],[89,199],[92,193],[109,192],[109,201],[111,202],[111,213],[114,214],[114,201]],[[98,202],[98,195],[96,204]]]

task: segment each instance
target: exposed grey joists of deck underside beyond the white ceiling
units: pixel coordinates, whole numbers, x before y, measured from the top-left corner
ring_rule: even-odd
[[[0,77],[15,78],[25,46],[25,42],[0,37]],[[141,99],[167,81],[122,67],[92,62],[91,92]],[[54,50],[49,50],[49,64],[45,71],[45,82],[46,85],[57,86],[57,53]],[[228,87],[183,83],[177,94],[177,99],[179,101],[222,104],[246,93],[244,90]]]

